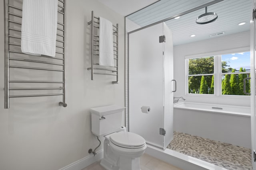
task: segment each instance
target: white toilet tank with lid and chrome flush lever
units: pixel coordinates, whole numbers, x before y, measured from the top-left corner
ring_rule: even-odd
[[[92,115],[92,133],[98,137],[102,137],[120,130],[124,108],[111,105],[90,109]]]

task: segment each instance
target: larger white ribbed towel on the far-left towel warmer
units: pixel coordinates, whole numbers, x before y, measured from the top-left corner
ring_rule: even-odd
[[[58,0],[23,0],[21,51],[55,57]]]

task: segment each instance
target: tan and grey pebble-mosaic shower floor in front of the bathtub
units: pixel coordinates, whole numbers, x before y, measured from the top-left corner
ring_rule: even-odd
[[[174,131],[168,149],[228,170],[252,170],[251,149]]]

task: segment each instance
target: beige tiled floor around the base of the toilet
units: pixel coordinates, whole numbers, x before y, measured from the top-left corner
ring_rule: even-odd
[[[144,154],[140,157],[140,168],[141,170],[181,170],[176,168],[162,160],[156,159],[148,154]],[[105,170],[100,166],[100,162],[95,162],[83,170]]]

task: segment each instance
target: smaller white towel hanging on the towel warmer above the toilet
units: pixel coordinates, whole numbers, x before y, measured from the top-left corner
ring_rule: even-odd
[[[99,64],[114,66],[112,22],[100,17]]]

